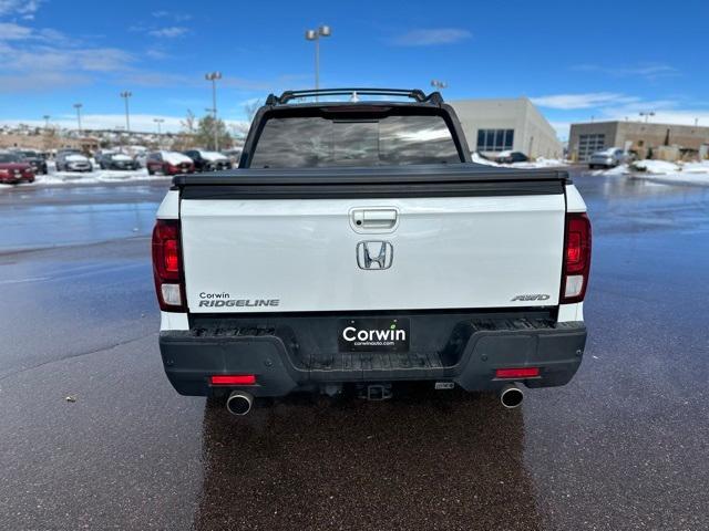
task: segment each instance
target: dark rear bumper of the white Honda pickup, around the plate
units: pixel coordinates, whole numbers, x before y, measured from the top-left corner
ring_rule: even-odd
[[[339,319],[259,320],[215,320],[220,324],[214,327],[162,332],[163,364],[175,389],[209,396],[224,391],[210,387],[209,376],[254,374],[257,385],[243,387],[254,396],[285,396],[328,384],[417,381],[495,391],[508,383],[495,378],[495,369],[505,367],[540,367],[540,376],[524,379],[525,385],[558,386],[578,369],[586,343],[583,322],[415,315],[409,353],[339,353]]]

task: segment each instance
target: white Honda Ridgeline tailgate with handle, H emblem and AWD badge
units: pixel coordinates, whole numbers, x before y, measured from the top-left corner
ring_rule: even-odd
[[[184,195],[189,312],[556,305],[565,196],[551,191]]]

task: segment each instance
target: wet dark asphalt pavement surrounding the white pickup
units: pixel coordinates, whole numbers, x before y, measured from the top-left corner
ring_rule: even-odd
[[[594,259],[569,385],[244,419],[162,371],[165,183],[1,190],[0,529],[708,529],[709,188],[575,181]]]

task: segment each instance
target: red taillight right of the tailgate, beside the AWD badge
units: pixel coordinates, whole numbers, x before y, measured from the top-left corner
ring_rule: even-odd
[[[590,221],[585,214],[566,215],[562,304],[582,302],[590,270]]]

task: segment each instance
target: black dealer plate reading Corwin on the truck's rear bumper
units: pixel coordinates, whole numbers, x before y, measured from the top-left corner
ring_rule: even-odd
[[[409,319],[341,319],[338,326],[340,352],[409,352]]]

